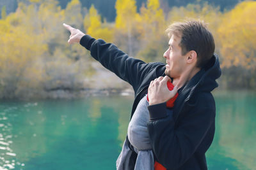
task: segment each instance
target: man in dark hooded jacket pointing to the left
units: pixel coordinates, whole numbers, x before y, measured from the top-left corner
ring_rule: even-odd
[[[214,39],[205,24],[188,20],[168,27],[166,64],[146,64],[113,44],[64,26],[71,32],[68,43],[80,43],[94,59],[132,85],[135,99],[131,117],[148,93],[147,128],[154,159],[166,169],[207,169],[205,152],[214,137],[216,114],[211,91],[218,87],[215,80],[221,70],[214,55]],[[172,91],[166,87],[170,79],[176,86]],[[170,111],[166,101],[177,91],[179,96]],[[137,153],[126,140],[133,152],[124,164],[126,169],[134,169]]]

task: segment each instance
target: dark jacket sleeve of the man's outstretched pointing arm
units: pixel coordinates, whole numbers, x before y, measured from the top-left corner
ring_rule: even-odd
[[[129,57],[112,43],[106,43],[102,39],[96,40],[89,35],[83,36],[80,44],[90,50],[92,57],[102,66],[130,83],[134,90],[138,89],[138,85],[154,65]]]

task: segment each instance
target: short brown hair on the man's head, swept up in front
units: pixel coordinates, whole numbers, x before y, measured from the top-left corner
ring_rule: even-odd
[[[166,29],[168,36],[180,36],[179,46],[182,55],[191,50],[197,54],[196,67],[204,67],[211,59],[215,43],[211,32],[206,24],[201,20],[186,20],[184,22],[174,22]]]

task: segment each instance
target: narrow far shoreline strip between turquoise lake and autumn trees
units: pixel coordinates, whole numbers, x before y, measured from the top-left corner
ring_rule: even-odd
[[[227,96],[228,93],[243,95],[250,93],[252,96],[256,95],[255,90],[224,90],[214,89],[213,96]],[[0,101],[30,101],[30,100],[45,100],[45,99],[83,99],[86,97],[94,96],[132,96],[134,91],[132,88],[102,88],[102,89],[49,89],[49,90],[26,90],[22,91],[15,96],[2,97]]]

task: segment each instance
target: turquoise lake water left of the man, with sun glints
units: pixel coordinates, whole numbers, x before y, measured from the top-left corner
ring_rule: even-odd
[[[1,102],[0,169],[115,169],[120,99]]]

